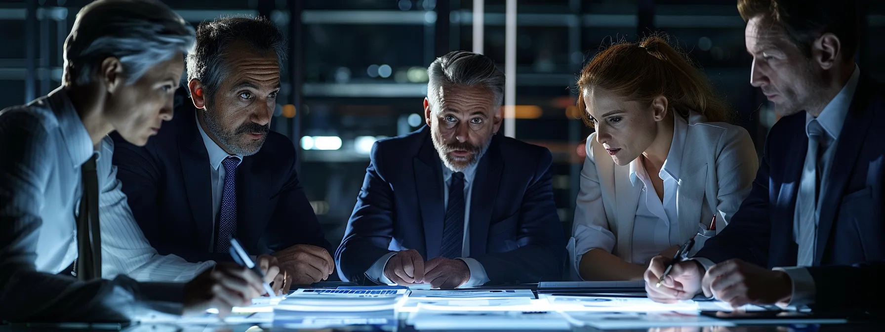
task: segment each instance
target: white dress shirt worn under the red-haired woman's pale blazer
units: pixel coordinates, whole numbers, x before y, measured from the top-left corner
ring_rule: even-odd
[[[629,263],[647,265],[651,258],[673,245],[681,245],[688,240],[682,238],[677,216],[676,192],[679,189],[682,152],[685,148],[688,122],[681,116],[673,117],[673,141],[667,152],[664,165],[658,176],[664,181],[664,199],[658,198],[648,172],[643,166],[642,156],[630,162],[630,180],[643,187],[636,205],[633,224],[633,250]],[[711,210],[706,200],[703,211]],[[615,249],[615,235],[610,229],[592,226],[582,228],[581,236],[576,236],[574,266],[581,265],[584,253],[602,249],[612,252]],[[699,249],[699,248],[697,248]],[[696,251],[693,248],[693,251]]]

